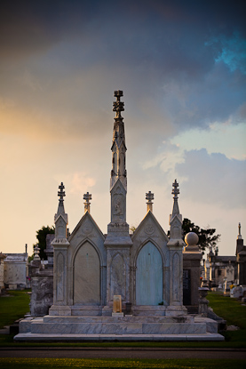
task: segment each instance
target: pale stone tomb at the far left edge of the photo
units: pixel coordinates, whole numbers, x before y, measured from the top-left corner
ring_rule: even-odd
[[[27,253],[6,253],[4,259],[4,285],[7,288],[26,288]]]

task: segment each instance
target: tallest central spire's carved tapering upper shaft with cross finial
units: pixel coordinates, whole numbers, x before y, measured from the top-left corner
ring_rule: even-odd
[[[127,190],[127,179],[126,179],[126,169],[125,169],[125,136],[124,136],[124,124],[123,116],[121,112],[124,111],[124,103],[121,101],[123,96],[123,91],[115,91],[114,96],[116,101],[114,101],[115,111],[115,124],[113,132],[113,143],[112,143],[112,171],[110,180],[110,190],[114,187],[118,179],[121,180],[123,187]]]

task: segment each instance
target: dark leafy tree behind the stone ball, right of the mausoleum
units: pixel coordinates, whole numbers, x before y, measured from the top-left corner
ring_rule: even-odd
[[[189,232],[194,232],[199,237],[199,247],[204,254],[206,248],[212,247],[215,253],[218,253],[218,242],[221,235],[216,235],[216,229],[201,229],[199,226],[194,225],[189,219],[184,218],[183,225],[183,237]]]

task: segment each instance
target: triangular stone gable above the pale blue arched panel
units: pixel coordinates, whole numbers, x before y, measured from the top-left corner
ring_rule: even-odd
[[[144,238],[155,238],[155,237],[163,237],[163,239],[168,242],[169,238],[164,232],[160,223],[156,220],[155,215],[148,211],[144,219],[140,222],[139,227],[135,230],[132,236],[132,241],[136,237],[144,237]]]

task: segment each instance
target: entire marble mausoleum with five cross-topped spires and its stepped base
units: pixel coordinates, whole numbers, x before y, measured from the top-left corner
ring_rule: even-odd
[[[223,340],[217,323],[191,316],[183,305],[183,254],[197,281],[190,301],[198,304],[202,253],[182,239],[179,183],[172,184],[170,237],[153,213],[154,194],[147,192],[147,214],[131,235],[126,219],[126,141],[122,91],[115,91],[115,123],[110,178],[111,218],[103,235],[91,216],[91,194],[84,194],[84,214],[67,232],[65,187],[59,187],[53,247],[53,304],[44,317],[20,322],[16,340]],[[198,269],[197,269],[198,268]],[[198,273],[198,275],[197,275]]]

